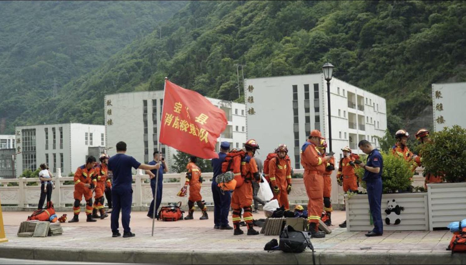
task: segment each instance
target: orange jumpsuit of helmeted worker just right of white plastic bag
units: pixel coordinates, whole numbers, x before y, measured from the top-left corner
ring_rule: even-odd
[[[278,164],[277,164],[278,160]],[[274,157],[268,162],[268,172],[272,187],[278,186],[280,192],[274,194],[274,198],[278,200],[278,205],[285,206],[285,210],[289,210],[287,187],[291,185],[291,162],[290,160],[279,157]]]

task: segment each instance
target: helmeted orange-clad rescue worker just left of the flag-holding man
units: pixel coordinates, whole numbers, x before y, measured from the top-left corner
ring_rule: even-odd
[[[105,217],[108,217],[109,215],[105,213],[105,206],[104,206],[104,192],[105,192],[105,186],[108,186],[111,188],[112,183],[110,182],[110,179],[107,179],[109,169],[107,167],[107,163],[109,162],[109,156],[107,154],[102,154],[99,158],[100,165],[97,165],[94,169],[96,171],[96,174],[94,178],[92,179],[92,183],[94,186],[96,186],[96,189],[94,190],[95,195],[94,195],[94,205],[92,206],[92,218],[99,218],[97,215],[97,212],[100,212],[100,219],[104,219]]]

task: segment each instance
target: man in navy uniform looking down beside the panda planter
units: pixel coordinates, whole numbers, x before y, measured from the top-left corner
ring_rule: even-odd
[[[374,148],[369,141],[362,140],[358,144],[359,149],[367,154],[366,164],[360,163],[358,166],[364,169],[363,180],[367,185],[367,196],[369,208],[374,220],[374,229],[366,234],[368,237],[376,237],[384,234],[382,222],[382,170],[384,161],[380,152]]]

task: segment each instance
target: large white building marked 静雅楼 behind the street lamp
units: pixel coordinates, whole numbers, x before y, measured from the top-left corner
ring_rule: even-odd
[[[284,143],[294,168],[302,168],[300,148],[310,131],[329,137],[327,82],[321,73],[248,79],[245,99],[247,137],[258,141],[262,161]],[[363,139],[379,147],[375,136],[383,137],[387,129],[384,98],[333,78],[330,100],[336,161],[344,146],[361,153],[357,144]]]

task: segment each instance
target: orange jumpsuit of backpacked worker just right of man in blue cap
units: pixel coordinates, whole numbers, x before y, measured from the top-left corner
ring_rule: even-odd
[[[243,220],[246,222],[248,229],[253,228],[253,209],[251,207],[253,202],[252,181],[257,181],[254,178],[254,173],[259,172],[256,160],[252,158],[252,155],[252,152],[247,152],[247,155],[241,160],[241,177],[244,178],[244,183],[234,190],[231,203],[233,209],[233,225],[239,227],[241,208],[243,208]]]

